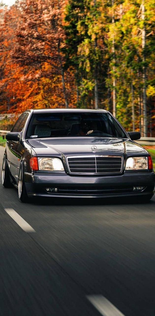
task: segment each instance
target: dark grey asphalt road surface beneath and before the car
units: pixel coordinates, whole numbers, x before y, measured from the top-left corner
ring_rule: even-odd
[[[104,315],[87,295],[103,295],[125,316],[155,315],[155,197],[22,204],[0,185],[0,244],[2,316]]]

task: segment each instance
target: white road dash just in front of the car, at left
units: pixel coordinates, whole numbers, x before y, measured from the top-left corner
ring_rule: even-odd
[[[9,216],[26,232],[35,233],[35,230],[13,209],[4,209]]]

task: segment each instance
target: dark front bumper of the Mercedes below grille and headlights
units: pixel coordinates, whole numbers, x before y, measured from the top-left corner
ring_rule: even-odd
[[[71,176],[67,174],[25,173],[29,197],[127,197],[152,195],[155,192],[155,173],[126,173],[118,176]],[[143,186],[134,192],[133,186]],[[49,193],[46,188],[57,188]]]

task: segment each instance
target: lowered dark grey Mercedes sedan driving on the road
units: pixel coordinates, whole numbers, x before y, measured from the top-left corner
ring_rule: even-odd
[[[43,109],[22,113],[6,134],[2,184],[31,197],[136,197],[150,200],[150,154],[106,110]]]

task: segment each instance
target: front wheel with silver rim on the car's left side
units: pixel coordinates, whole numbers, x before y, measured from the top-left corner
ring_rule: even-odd
[[[24,182],[24,167],[23,162],[20,164],[19,177],[18,177],[18,197],[21,202],[29,202],[29,198],[26,192],[25,182]]]

